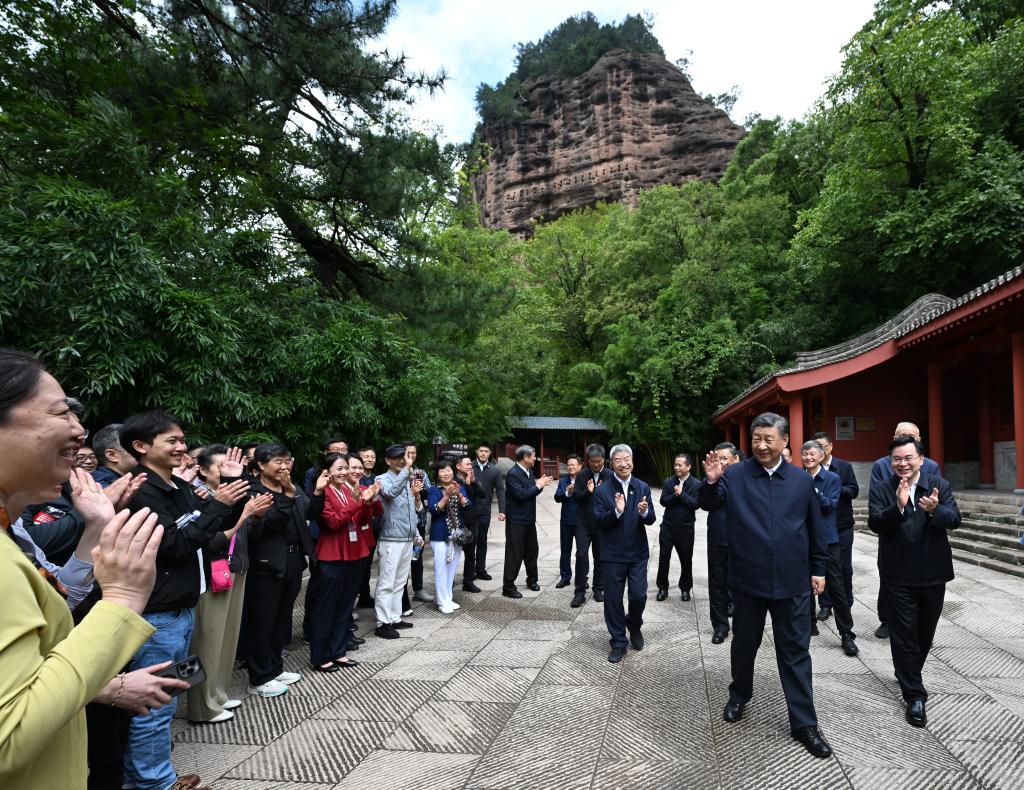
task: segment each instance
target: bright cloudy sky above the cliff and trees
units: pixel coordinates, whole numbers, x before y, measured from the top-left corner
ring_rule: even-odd
[[[751,113],[803,117],[872,9],[870,0],[404,0],[380,44],[404,51],[413,70],[447,72],[445,90],[421,96],[413,115],[442,138],[463,142],[476,125],[477,85],[508,76],[517,43],[537,41],[584,11],[605,24],[646,10],[669,60],[690,58],[697,92],[739,86],[732,113],[739,123]]]

